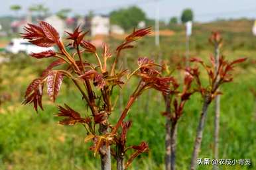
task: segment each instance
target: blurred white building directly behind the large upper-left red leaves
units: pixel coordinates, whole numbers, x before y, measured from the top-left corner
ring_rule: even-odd
[[[44,21],[48,22],[54,28],[56,28],[56,30],[60,34],[60,37],[63,36],[64,31],[66,30],[66,23],[65,23],[65,21],[60,19],[60,17],[58,17],[57,15],[52,15],[52,16],[47,17],[46,19],[44,19]]]

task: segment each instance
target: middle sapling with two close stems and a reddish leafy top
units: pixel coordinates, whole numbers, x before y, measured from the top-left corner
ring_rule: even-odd
[[[167,70],[167,72],[170,72],[170,71]],[[183,110],[186,102],[190,99],[190,96],[195,92],[192,89],[193,80],[194,80],[194,77],[190,75],[190,73],[186,72],[185,70],[184,79],[181,82],[178,82],[177,79],[172,77],[170,93],[163,93],[164,101],[166,104],[166,110],[163,113],[163,115],[166,116],[166,124],[165,124],[165,128],[166,128],[165,169],[166,170],[175,169],[178,120],[183,114]]]

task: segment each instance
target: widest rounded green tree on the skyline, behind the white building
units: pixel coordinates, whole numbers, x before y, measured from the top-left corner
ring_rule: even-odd
[[[146,21],[146,15],[139,7],[128,7],[110,13],[110,22],[118,24],[125,30],[134,28],[140,21]]]

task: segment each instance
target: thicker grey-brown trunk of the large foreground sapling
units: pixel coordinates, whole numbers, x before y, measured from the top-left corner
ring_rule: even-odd
[[[99,133],[100,134],[107,133],[107,126],[100,124],[99,125]],[[106,146],[104,144],[103,146],[101,146],[99,153],[100,153],[100,159],[101,159],[101,170],[111,170],[110,146]]]

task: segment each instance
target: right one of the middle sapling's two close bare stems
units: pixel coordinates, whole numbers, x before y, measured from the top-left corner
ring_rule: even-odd
[[[172,129],[170,130],[170,169],[175,170],[176,159],[176,140],[177,140],[177,126],[178,122],[172,122]]]

